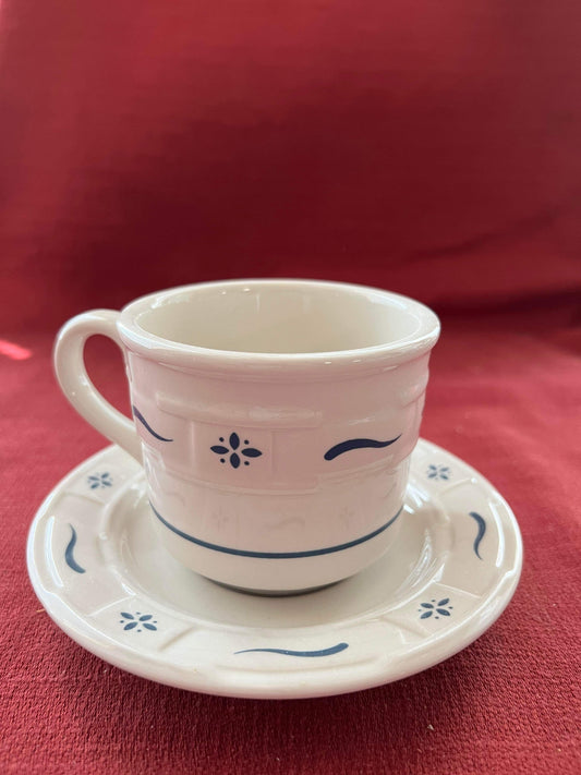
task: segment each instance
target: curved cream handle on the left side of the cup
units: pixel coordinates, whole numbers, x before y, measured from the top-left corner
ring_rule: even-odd
[[[55,342],[55,372],[63,393],[76,411],[141,463],[142,446],[135,425],[98,392],[85,368],[85,342],[92,336],[109,337],[123,351],[116,325],[118,318],[119,313],[114,310],[92,310],[65,323]]]

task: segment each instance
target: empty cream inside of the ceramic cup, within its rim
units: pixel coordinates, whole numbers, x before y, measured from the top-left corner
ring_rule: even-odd
[[[136,304],[134,323],[146,334],[179,344],[249,353],[382,347],[416,336],[425,329],[426,314],[437,322],[429,310],[404,296],[315,281],[207,283]]]

